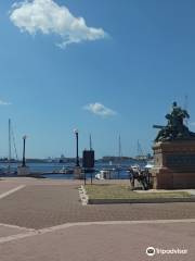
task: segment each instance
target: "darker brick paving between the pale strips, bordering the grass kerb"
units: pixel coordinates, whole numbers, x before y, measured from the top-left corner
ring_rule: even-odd
[[[28,185],[0,200],[0,223],[43,228],[87,221],[194,219],[195,203],[81,206],[77,185]]]

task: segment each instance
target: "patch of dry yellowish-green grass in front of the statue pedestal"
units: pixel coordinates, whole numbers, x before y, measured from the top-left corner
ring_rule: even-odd
[[[89,199],[159,199],[159,198],[188,198],[185,191],[176,192],[135,192],[127,185],[86,185]]]

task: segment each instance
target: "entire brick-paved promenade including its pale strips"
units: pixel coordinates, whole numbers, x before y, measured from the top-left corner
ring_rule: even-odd
[[[195,203],[81,206],[77,181],[0,181],[1,261],[151,260],[147,247],[187,249],[153,260],[194,260]]]

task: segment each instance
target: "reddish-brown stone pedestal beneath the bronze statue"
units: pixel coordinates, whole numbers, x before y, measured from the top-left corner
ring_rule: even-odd
[[[157,142],[153,150],[153,188],[195,188],[195,140]]]

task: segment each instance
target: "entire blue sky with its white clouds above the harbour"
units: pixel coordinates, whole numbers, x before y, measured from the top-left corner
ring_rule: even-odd
[[[90,133],[96,158],[118,154],[119,134],[123,156],[138,139],[148,152],[153,124],[186,95],[195,130],[194,1],[15,2],[0,1],[0,157],[9,117],[29,158],[74,157],[74,128],[80,154]]]

